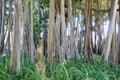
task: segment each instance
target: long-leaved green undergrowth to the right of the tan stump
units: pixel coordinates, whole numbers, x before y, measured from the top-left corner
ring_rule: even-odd
[[[82,60],[70,60],[65,63],[55,62],[47,65],[47,77],[51,80],[119,80],[120,66],[100,64],[96,56],[94,63]]]

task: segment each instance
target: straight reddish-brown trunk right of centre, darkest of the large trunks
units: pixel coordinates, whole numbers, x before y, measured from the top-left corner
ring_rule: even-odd
[[[85,61],[88,62],[91,59],[90,53],[90,36],[91,36],[91,9],[92,9],[92,1],[85,1],[85,21],[86,21],[86,35],[85,35],[85,49],[84,49],[84,57]]]

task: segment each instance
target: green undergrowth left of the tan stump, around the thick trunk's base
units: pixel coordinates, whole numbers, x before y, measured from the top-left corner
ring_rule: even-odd
[[[35,73],[35,64],[31,64],[27,59],[21,61],[21,69],[16,74],[10,72],[9,66],[10,56],[6,58],[5,64],[0,57],[0,80],[41,80],[42,78]]]

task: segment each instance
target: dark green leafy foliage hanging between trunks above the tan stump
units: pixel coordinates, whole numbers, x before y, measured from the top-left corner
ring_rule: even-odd
[[[44,27],[47,27],[47,19],[49,16],[48,12],[49,7],[49,0],[40,0],[34,4],[34,13],[33,13],[33,23],[34,23],[34,39],[40,40],[41,39],[41,32]],[[40,9],[45,10],[43,18],[40,17]]]

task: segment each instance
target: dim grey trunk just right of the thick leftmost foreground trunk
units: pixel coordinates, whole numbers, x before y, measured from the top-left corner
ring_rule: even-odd
[[[30,59],[30,11],[29,2],[25,1],[25,7],[23,12],[23,57]],[[23,59],[24,60],[24,59]]]

